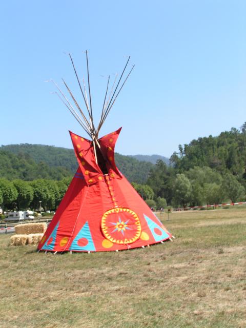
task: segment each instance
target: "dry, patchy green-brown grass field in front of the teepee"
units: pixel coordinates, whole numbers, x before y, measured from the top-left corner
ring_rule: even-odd
[[[246,209],[161,215],[174,242],[53,255],[0,235],[0,326],[245,328]]]

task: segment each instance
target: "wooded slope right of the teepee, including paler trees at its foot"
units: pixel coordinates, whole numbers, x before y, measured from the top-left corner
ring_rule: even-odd
[[[246,123],[240,130],[220,133],[179,145],[170,159],[151,169],[148,185],[154,198],[173,206],[199,206],[245,199]]]

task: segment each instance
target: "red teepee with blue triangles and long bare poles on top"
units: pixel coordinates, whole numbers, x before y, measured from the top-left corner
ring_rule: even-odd
[[[106,101],[110,77],[108,78],[101,118],[97,129],[95,129],[87,52],[90,105],[86,91],[84,94],[81,88],[72,57],[69,56],[85,101],[87,116],[79,107],[65,81],[65,87],[79,113],[76,112],[68,98],[56,86],[61,100],[91,137],[92,141],[70,132],[79,167],[42,241],[38,245],[38,250],[54,252],[118,251],[143,247],[170,239],[172,235],[115,165],[114,146],[120,129],[98,139],[99,130],[133,69],[120,85],[130,57],[118,83],[115,79],[108,101]],[[116,87],[114,89],[115,83]],[[119,91],[117,91],[118,88]]]

